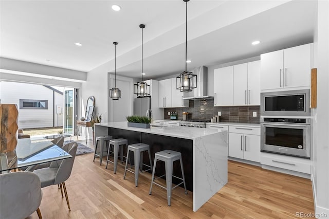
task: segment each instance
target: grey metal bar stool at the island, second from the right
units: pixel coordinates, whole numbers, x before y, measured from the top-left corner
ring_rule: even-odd
[[[134,166],[135,166],[135,172],[128,170],[127,169],[127,164],[128,164],[128,158],[129,158],[129,152],[133,151],[134,152]],[[145,165],[143,163],[143,152],[148,151],[149,152],[149,159],[150,159],[150,165]],[[144,170],[143,171],[143,165],[149,167],[150,169]],[[136,143],[136,144],[130,144],[128,145],[128,150],[127,150],[127,158],[125,161],[125,168],[124,168],[124,175],[123,179],[125,179],[125,174],[126,171],[129,171],[131,173],[135,173],[135,186],[138,186],[138,175],[139,175],[139,169],[140,172],[145,172],[149,170],[153,170],[152,168],[152,160],[151,160],[151,153],[150,153],[150,145],[149,144],[144,144],[144,143]]]

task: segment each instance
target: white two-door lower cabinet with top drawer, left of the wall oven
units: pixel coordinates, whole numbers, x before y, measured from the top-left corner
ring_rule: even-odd
[[[258,127],[229,126],[230,157],[261,161],[261,130]]]

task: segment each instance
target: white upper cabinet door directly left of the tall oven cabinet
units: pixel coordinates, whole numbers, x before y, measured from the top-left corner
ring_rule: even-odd
[[[261,105],[261,61],[248,62],[248,105]]]

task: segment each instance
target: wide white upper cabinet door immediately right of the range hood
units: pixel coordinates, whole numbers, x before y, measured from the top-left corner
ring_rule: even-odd
[[[233,105],[233,66],[214,69],[214,106]]]

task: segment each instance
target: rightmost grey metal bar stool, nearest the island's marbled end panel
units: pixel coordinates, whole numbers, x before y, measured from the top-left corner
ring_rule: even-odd
[[[166,187],[161,186],[160,184],[157,184],[154,182],[154,180],[161,178],[162,176],[159,176],[157,178],[154,178],[154,173],[155,173],[155,167],[156,167],[156,162],[158,160],[164,161],[165,162],[165,167],[166,167],[166,174],[162,176],[166,176]],[[173,176],[173,163],[176,160],[180,160],[180,169],[181,169],[181,175],[183,178],[179,178],[177,176]],[[153,172],[152,172],[152,181],[151,181],[151,187],[150,187],[150,192],[149,194],[152,194],[152,186],[153,184],[158,185],[159,187],[162,187],[163,189],[167,190],[167,200],[168,200],[168,206],[170,206],[170,199],[171,199],[171,192],[173,189],[175,189],[177,186],[180,184],[176,185],[175,187],[172,187],[172,179],[173,177],[177,179],[181,179],[182,182],[180,184],[184,183],[184,188],[185,188],[185,194],[187,194],[186,190],[186,185],[185,185],[185,176],[184,176],[184,169],[183,169],[183,162],[181,160],[181,153],[177,151],[172,151],[172,150],[164,150],[155,153],[154,156],[154,167],[153,167]]]

